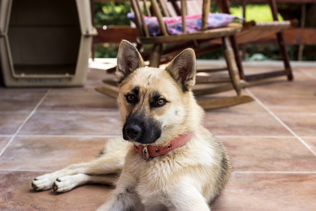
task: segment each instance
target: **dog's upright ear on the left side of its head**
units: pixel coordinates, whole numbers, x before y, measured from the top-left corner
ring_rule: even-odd
[[[123,39],[119,47],[118,66],[116,69],[119,83],[134,70],[143,66],[145,66],[144,61],[138,50],[129,41]]]

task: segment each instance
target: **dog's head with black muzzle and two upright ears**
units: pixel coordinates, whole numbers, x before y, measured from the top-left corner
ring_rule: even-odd
[[[192,49],[176,56],[166,69],[145,67],[137,49],[123,40],[116,75],[123,138],[138,144],[160,145],[188,133],[188,110],[196,105],[191,87],[196,60]]]

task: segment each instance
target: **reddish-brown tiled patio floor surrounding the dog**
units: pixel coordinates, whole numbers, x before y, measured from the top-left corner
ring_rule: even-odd
[[[259,71],[274,63],[245,65]],[[275,67],[273,67],[275,68]],[[213,210],[315,210],[316,63],[293,65],[295,79],[250,82],[255,101],[206,112],[205,125],[233,160]],[[83,88],[0,87],[0,210],[94,210],[111,189],[35,192],[34,177],[94,157],[120,134],[114,99],[94,91],[109,75],[91,69]]]

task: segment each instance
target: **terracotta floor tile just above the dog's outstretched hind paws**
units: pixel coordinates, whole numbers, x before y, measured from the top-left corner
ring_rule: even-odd
[[[0,170],[56,171],[91,160],[106,142],[92,137],[16,137],[0,157]]]

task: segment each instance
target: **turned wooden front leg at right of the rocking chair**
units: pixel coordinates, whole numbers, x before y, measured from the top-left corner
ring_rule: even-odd
[[[224,56],[226,59],[229,75],[233,83],[233,87],[236,90],[237,95],[240,95],[241,94],[240,77],[239,77],[238,68],[236,65],[234,51],[230,45],[230,41],[228,37],[222,37],[222,43],[223,43]]]

